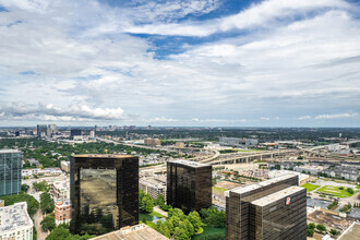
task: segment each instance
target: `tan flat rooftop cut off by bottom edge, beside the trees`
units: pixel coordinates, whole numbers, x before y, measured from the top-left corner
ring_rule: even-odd
[[[109,232],[107,235],[92,238],[92,240],[168,240],[164,235],[157,232],[153,228],[140,224],[132,227],[123,227],[120,230]]]

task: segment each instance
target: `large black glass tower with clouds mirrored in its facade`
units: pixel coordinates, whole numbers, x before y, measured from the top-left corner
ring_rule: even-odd
[[[139,223],[139,157],[88,154],[70,159],[73,231],[103,235]]]

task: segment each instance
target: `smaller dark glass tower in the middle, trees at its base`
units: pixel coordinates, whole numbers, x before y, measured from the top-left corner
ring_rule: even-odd
[[[168,161],[167,204],[185,213],[212,206],[212,166],[190,160]]]

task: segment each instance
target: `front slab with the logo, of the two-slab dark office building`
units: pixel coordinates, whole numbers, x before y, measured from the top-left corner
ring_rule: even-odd
[[[250,205],[250,239],[307,239],[307,189],[289,187]]]

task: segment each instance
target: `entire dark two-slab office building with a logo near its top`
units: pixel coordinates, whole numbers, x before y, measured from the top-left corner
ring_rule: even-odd
[[[286,175],[226,195],[226,239],[307,239],[307,190]]]

